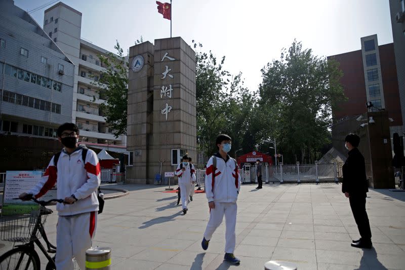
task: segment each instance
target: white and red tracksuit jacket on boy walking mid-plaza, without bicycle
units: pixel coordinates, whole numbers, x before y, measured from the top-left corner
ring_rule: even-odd
[[[241,184],[235,160],[228,155],[225,162],[220,153],[216,153],[215,158],[217,168],[214,168],[213,157],[207,163],[205,189],[208,202],[235,203]]]

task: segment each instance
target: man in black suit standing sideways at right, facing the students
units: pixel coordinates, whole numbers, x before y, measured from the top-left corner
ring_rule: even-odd
[[[371,248],[371,229],[366,212],[366,197],[369,192],[366,176],[366,164],[363,155],[357,149],[360,138],[350,133],[345,138],[345,147],[349,157],[343,165],[342,192],[349,198],[351,211],[356,221],[361,238],[351,244],[356,248]]]

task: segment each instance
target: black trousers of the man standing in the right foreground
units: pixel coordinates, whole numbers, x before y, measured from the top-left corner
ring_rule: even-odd
[[[366,196],[350,196],[349,202],[361,240],[371,241],[370,222],[366,212]]]

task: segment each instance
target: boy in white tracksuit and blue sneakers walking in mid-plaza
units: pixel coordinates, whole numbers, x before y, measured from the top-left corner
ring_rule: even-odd
[[[216,228],[222,223],[225,215],[226,243],[224,259],[233,264],[238,264],[240,260],[233,255],[233,251],[236,242],[236,201],[241,181],[236,161],[227,154],[231,149],[231,138],[228,135],[220,134],[217,137],[216,144],[219,151],[210,158],[206,170],[205,189],[210,208],[210,220],[201,247],[204,250],[208,249],[209,241]]]

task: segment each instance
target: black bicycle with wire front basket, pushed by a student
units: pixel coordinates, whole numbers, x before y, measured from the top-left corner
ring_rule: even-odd
[[[18,200],[18,199],[16,199]],[[39,210],[32,211],[31,214],[18,216],[2,217],[0,223],[0,236],[4,241],[22,242],[22,245],[16,245],[12,250],[7,251],[0,256],[0,269],[32,269],[39,270],[41,268],[41,260],[38,253],[35,251],[36,244],[48,259],[46,270],[56,269],[55,256],[49,254],[56,253],[56,247],[52,245],[45,233],[44,223],[47,215],[52,214],[51,209],[45,206],[52,202],[64,203],[62,199],[52,199],[49,201],[38,201],[31,197],[31,201],[40,205]],[[39,235],[38,235],[39,234]],[[46,248],[39,241],[43,238],[46,243]],[[76,263],[75,263],[76,264]],[[75,265],[75,269],[79,269]]]

